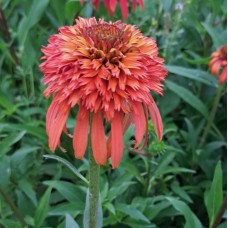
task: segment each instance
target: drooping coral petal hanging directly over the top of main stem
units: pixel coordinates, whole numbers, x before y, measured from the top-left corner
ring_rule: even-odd
[[[105,165],[107,162],[107,145],[101,110],[93,114],[91,143],[96,163]]]

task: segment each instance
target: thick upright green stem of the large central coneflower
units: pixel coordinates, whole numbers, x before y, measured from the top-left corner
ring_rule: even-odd
[[[95,162],[91,146],[89,146],[89,227],[97,228],[99,200],[100,166]]]

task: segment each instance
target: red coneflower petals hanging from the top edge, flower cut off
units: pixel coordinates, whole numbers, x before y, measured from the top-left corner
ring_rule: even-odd
[[[84,0],[80,0],[81,3],[84,3]],[[100,0],[91,0],[91,4],[98,9],[99,4],[100,4]],[[121,9],[121,13],[123,16],[123,19],[126,20],[128,18],[128,3],[129,0],[119,0],[120,2],[120,9]],[[105,8],[107,9],[109,14],[114,14],[116,11],[116,4],[117,4],[117,0],[104,0],[104,5]],[[132,8],[133,10],[136,9],[137,4],[140,5],[141,9],[144,9],[144,2],[143,0],[132,0]]]

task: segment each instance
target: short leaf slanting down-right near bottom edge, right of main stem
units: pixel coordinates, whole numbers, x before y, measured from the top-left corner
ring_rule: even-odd
[[[131,218],[140,220],[146,223],[150,223],[150,220],[137,208],[133,208],[129,205],[125,205],[122,203],[116,204],[115,205],[116,211],[120,211],[126,215],[129,215]]]

